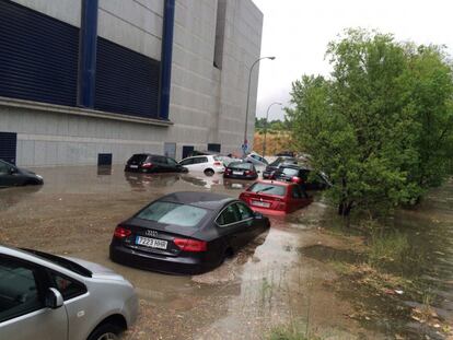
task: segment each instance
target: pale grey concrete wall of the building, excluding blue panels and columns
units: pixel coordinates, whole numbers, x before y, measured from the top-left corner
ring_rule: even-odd
[[[208,143],[220,143],[223,153],[239,151],[248,68],[259,57],[263,14],[251,0],[219,1],[225,7],[221,70],[213,67],[218,1],[176,0],[171,125],[0,99],[0,131],[18,132],[18,164],[96,164],[97,153],[113,153],[114,163],[124,163],[137,152],[162,154],[164,142],[176,143],[177,159],[183,145],[206,150]],[[80,26],[79,0],[16,2]],[[160,60],[162,16],[163,0],[100,0],[98,36]],[[257,78],[256,67],[251,86],[251,141]]]

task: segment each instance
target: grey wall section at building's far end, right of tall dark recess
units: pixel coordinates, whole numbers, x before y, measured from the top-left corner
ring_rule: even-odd
[[[262,49],[263,13],[252,1],[225,2],[219,139],[222,146],[234,150],[244,140],[249,68]],[[247,140],[253,150],[259,63],[252,72]]]

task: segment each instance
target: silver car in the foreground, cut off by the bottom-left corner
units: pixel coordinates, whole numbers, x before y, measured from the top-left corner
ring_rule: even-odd
[[[118,339],[137,313],[133,286],[111,269],[0,246],[0,339]]]

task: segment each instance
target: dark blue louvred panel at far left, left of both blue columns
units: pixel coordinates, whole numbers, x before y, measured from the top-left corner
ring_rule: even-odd
[[[0,96],[74,106],[79,28],[0,1]]]

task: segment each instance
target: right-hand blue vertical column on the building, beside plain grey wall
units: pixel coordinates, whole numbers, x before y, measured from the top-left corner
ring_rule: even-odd
[[[161,50],[160,118],[169,120],[170,92],[172,83],[173,27],[175,0],[165,0]]]

